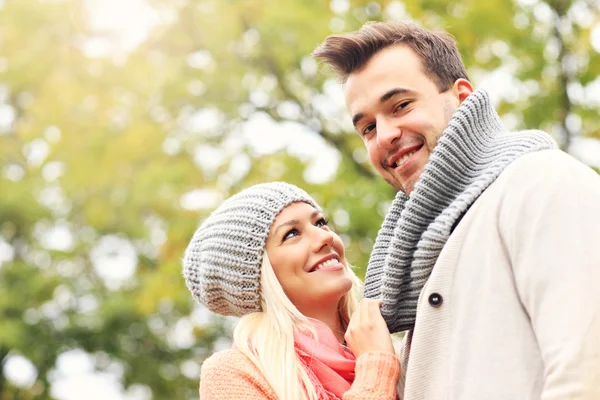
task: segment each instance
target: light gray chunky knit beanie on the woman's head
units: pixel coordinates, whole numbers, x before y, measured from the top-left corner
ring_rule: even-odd
[[[251,186],[225,200],[185,251],[183,276],[194,298],[221,315],[261,311],[260,268],[267,236],[275,217],[296,202],[320,210],[304,190],[284,182]]]

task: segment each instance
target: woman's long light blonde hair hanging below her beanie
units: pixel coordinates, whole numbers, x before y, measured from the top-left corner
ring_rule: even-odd
[[[348,326],[350,317],[358,307],[362,282],[349,266],[352,288],[339,303],[342,327]],[[233,342],[267,379],[275,394],[286,400],[316,400],[318,389],[294,349],[294,331],[312,334],[309,319],[287,298],[275,276],[273,266],[265,252],[260,277],[261,312],[243,316],[238,322]]]

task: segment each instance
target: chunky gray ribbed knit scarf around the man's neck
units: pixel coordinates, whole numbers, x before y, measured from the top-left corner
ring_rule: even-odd
[[[410,197],[396,195],[369,260],[365,297],[381,298],[392,333],[414,326],[419,293],[471,204],[515,159],[553,148],[544,132],[506,131],[484,90],[460,105]]]

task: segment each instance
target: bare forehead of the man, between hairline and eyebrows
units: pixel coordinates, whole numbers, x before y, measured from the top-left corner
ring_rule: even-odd
[[[350,74],[344,86],[346,106],[352,114],[378,102],[393,88],[419,93],[435,87],[425,75],[419,56],[407,45],[397,44],[375,53],[360,70]]]

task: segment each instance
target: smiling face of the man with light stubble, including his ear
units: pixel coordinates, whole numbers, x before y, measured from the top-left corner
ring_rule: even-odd
[[[350,74],[344,93],[371,163],[390,185],[410,194],[452,114],[472,91],[459,79],[440,93],[418,55],[398,44]]]

